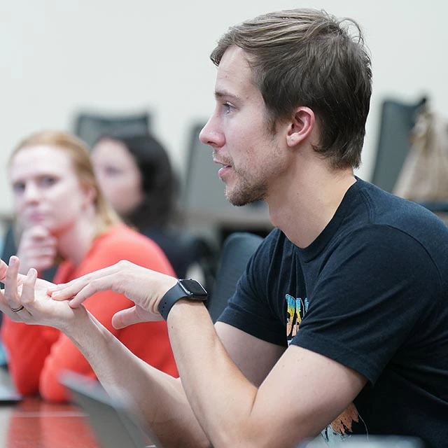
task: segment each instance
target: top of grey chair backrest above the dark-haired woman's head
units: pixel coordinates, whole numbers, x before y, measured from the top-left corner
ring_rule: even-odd
[[[91,147],[102,134],[107,132],[141,134],[148,132],[150,127],[151,116],[146,111],[115,116],[81,112],[76,116],[73,132]]]

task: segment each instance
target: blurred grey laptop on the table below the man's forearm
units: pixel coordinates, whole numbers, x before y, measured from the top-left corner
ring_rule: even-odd
[[[67,388],[71,401],[87,414],[103,448],[163,448],[150,430],[141,428],[125,400],[106,393],[98,381],[73,372],[64,372],[59,381]]]

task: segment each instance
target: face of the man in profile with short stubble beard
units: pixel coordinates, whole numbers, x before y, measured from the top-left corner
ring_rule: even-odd
[[[218,175],[234,205],[265,200],[287,167],[279,137],[269,132],[265,102],[241,48],[226,50],[216,77],[216,107],[200,134],[223,165]]]

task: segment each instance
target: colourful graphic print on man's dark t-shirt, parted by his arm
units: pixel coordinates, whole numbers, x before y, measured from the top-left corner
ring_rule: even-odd
[[[300,323],[307,313],[308,307],[309,302],[307,297],[302,299],[301,297],[295,298],[292,295],[286,294],[286,336],[288,339],[288,346],[293,337],[297,335]],[[332,442],[339,442],[346,437],[350,437],[353,433],[353,423],[356,424],[360,422],[363,423],[358,414],[358,409],[351,403],[342,414],[337,416],[337,418],[322,431],[321,436],[325,442],[331,445]],[[365,428],[365,433],[367,434],[367,428]]]

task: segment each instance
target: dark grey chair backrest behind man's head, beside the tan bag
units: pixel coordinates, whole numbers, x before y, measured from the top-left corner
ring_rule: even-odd
[[[425,102],[425,98],[413,104],[395,99],[384,100],[381,106],[377,158],[371,180],[379,188],[392,192],[409,153],[409,134],[414,127],[416,113]]]

